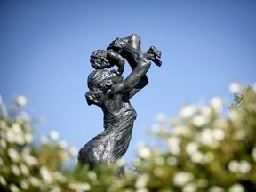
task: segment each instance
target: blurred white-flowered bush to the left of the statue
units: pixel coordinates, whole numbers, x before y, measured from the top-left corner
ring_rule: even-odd
[[[0,100],[0,191],[89,191],[89,184],[70,182],[61,171],[77,150],[59,141],[59,132],[42,136],[36,146],[33,121],[22,110],[26,105],[22,95],[11,109]]]

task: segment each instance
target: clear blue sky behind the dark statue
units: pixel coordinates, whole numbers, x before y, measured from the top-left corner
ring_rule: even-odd
[[[141,48],[162,50],[148,86],[132,98],[138,113],[129,162],[158,113],[172,117],[185,102],[232,101],[228,85],[256,82],[255,1],[0,1],[0,94],[28,98],[44,116],[37,132],[60,132],[82,148],[103,130],[103,114],[86,104],[89,59],[116,37],[136,33]],[[130,68],[125,68],[124,76]]]

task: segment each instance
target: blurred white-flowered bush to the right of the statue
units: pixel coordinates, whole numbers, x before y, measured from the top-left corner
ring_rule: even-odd
[[[215,97],[154,124],[152,132],[164,144],[140,147],[140,160],[133,162],[147,178],[145,191],[256,190],[256,89],[233,83],[229,90],[235,103],[228,115],[224,100]]]

